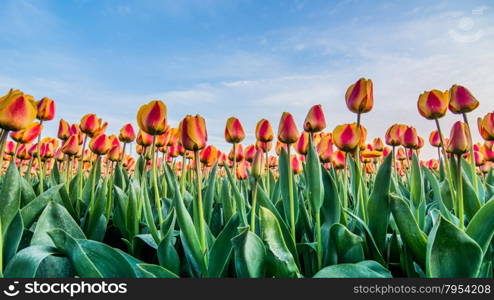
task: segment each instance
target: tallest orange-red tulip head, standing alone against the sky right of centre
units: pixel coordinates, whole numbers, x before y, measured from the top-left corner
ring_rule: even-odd
[[[352,84],[345,94],[346,106],[356,114],[366,113],[374,105],[372,80],[360,78]]]

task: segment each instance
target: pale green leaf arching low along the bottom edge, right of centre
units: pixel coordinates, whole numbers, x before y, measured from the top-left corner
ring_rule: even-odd
[[[380,263],[365,260],[356,264],[329,266],[314,275],[314,278],[391,278],[391,273]]]

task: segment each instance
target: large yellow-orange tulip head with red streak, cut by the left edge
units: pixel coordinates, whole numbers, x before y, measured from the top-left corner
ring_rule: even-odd
[[[0,99],[0,128],[18,131],[27,128],[36,118],[33,96],[10,90]]]

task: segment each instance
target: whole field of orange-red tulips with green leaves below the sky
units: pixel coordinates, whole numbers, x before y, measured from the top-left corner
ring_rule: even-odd
[[[327,128],[324,103],[255,132],[238,115],[225,120],[224,152],[200,115],[169,124],[166,99],[112,134],[95,114],[69,124],[54,100],[8,91],[0,275],[492,278],[494,113],[470,120],[475,91],[453,85],[417,95],[411,113],[435,126],[429,136],[395,124],[368,137],[372,80],[344,91],[355,123]]]

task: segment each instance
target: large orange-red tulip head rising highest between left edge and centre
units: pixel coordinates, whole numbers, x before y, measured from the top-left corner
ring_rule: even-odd
[[[147,134],[159,135],[166,131],[166,105],[159,100],[144,104],[137,112],[137,124]]]

